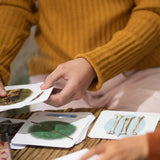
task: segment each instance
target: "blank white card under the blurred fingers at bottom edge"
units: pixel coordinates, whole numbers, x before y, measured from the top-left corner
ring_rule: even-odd
[[[65,155],[63,157],[60,158],[56,158],[55,160],[79,160],[85,153],[88,152],[88,149],[82,149],[73,153],[70,153],[68,155]],[[88,160],[96,160],[98,158],[97,155],[92,156],[91,158],[89,158]]]

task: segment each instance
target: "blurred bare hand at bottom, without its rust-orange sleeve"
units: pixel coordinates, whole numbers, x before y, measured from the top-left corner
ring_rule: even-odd
[[[144,160],[148,156],[147,136],[136,136],[107,141],[92,148],[80,160],[97,154],[97,160]]]

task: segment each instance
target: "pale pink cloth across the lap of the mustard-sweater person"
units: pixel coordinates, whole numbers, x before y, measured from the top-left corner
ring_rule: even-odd
[[[47,75],[30,77],[31,83],[44,81]],[[59,81],[57,84],[62,85]],[[44,103],[32,105],[31,111],[57,110],[66,108],[100,108],[160,112],[160,68],[130,71],[117,75],[105,82],[96,92],[86,91],[84,98],[62,107]]]

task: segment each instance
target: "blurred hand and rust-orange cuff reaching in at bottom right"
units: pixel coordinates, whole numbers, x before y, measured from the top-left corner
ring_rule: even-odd
[[[101,143],[91,148],[80,160],[87,160],[95,154],[98,155],[97,160],[159,160],[160,130]]]

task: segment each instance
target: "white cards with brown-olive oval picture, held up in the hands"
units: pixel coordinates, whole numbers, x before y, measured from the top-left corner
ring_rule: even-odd
[[[0,112],[46,101],[53,87],[41,90],[42,83],[5,87],[8,93],[6,97],[0,97]]]

